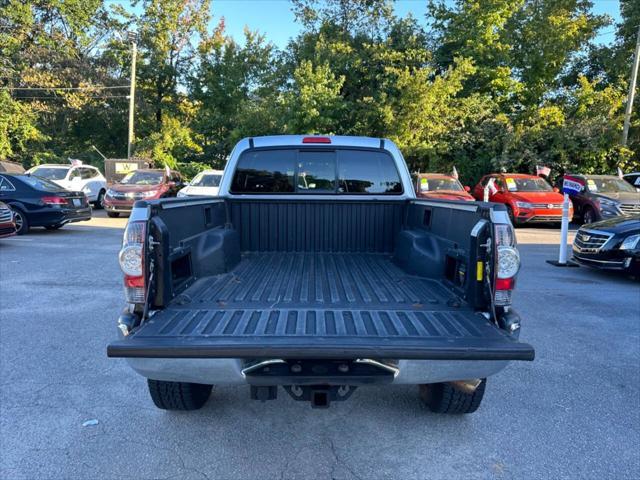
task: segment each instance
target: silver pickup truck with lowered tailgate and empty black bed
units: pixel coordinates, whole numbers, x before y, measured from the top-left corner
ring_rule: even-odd
[[[387,139],[241,140],[219,197],[136,202],[119,261],[107,353],[162,409],[200,408],[214,384],[318,408],[414,384],[432,411],[471,413],[487,377],[534,358],[505,207],[417,199]]]

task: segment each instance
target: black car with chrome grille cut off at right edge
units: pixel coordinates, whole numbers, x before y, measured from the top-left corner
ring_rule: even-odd
[[[640,215],[584,225],[573,241],[573,259],[588,267],[640,275]]]

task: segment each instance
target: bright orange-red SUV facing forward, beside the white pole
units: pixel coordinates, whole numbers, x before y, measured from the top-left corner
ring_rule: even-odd
[[[485,175],[473,188],[473,196],[484,198],[484,187],[495,179],[495,193],[489,193],[489,201],[504,203],[514,225],[524,223],[556,223],[562,221],[563,196],[547,181],[535,175],[521,173],[492,173]],[[570,205],[569,218],[573,217]]]

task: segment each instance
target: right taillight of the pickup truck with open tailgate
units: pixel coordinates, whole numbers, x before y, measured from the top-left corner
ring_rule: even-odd
[[[494,304],[511,305],[511,292],[520,270],[520,254],[516,248],[516,236],[511,224],[496,224]]]

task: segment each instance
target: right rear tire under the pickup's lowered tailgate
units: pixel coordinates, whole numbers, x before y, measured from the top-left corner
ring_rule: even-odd
[[[464,414],[473,413],[480,406],[487,379],[473,393],[462,392],[448,383],[429,383],[420,385],[420,398],[435,413]]]

